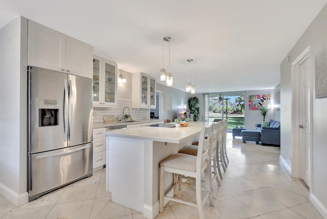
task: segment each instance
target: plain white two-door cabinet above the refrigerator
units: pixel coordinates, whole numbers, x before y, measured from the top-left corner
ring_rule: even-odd
[[[28,21],[28,65],[92,78],[91,45]]]

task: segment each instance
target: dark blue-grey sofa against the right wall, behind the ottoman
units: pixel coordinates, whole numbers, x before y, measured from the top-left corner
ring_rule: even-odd
[[[260,141],[262,145],[273,144],[281,145],[281,122],[270,119],[269,127],[261,127],[261,124],[255,125],[255,130],[261,132]]]

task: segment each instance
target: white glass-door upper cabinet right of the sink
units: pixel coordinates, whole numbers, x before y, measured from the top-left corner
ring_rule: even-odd
[[[132,74],[132,108],[156,108],[155,78],[142,72]]]

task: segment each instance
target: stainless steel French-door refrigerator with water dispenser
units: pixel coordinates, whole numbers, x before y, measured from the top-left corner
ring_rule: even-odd
[[[92,175],[92,80],[28,70],[29,200]]]

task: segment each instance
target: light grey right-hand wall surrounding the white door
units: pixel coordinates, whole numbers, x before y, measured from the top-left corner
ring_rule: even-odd
[[[300,54],[310,46],[310,80],[312,98],[312,180],[310,187],[310,199],[320,210],[320,213],[327,217],[327,98],[315,99],[315,55],[322,46],[327,47],[327,5],[321,10],[306,32],[296,42],[289,52],[290,62],[285,58],[281,63],[281,156],[289,161],[292,153],[292,63]],[[326,55],[325,55],[326,56]],[[295,132],[295,131],[294,131]]]

